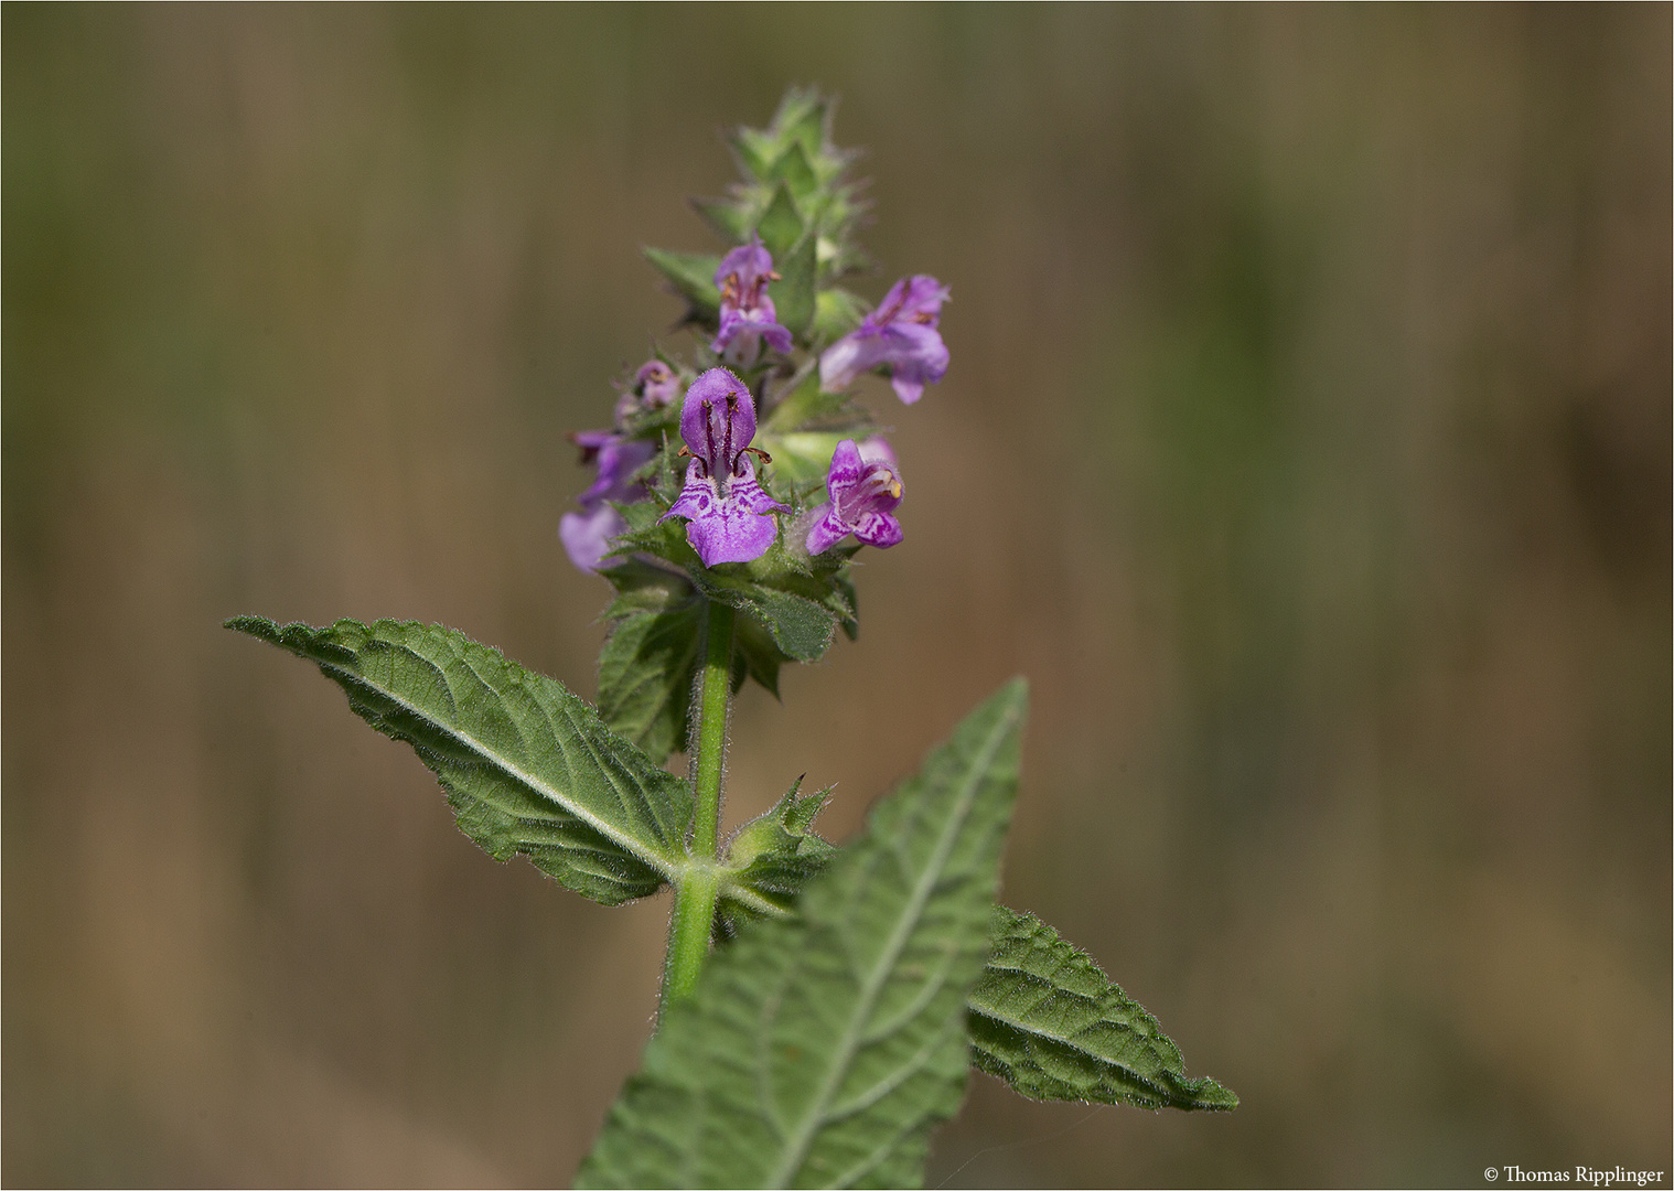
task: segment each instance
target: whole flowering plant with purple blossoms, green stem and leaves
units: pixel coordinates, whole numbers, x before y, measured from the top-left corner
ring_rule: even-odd
[[[839,848],[829,791],[721,843],[732,699],[857,633],[850,565],[904,541],[901,466],[854,385],[917,402],[947,372],[947,288],[896,281],[867,310],[850,154],[830,104],[792,90],[732,146],[743,181],[698,203],[725,255],[648,250],[688,302],[686,355],[578,432],[598,467],[559,524],[614,588],[596,705],[437,625],[229,628],[318,663],[417,750],[460,829],[603,905],[673,889],[641,1070],[583,1163],[586,1186],[917,1186],[969,1067],[1024,1096],[1230,1109],[1140,1005],[1055,930],[994,903],[1018,779],[1021,678],[959,724]],[[678,447],[676,447],[678,444]],[[685,464],[681,466],[681,461]],[[690,779],[665,769],[685,749]]]

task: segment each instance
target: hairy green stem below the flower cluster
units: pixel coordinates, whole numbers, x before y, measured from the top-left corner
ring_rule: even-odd
[[[691,817],[691,859],[696,861],[675,889],[668,921],[668,960],[663,965],[666,1012],[691,995],[710,951],[710,928],[720,873],[715,846],[721,819],[721,762],[727,754],[727,712],[732,702],[733,610],[710,601],[703,673],[698,678],[698,807]]]

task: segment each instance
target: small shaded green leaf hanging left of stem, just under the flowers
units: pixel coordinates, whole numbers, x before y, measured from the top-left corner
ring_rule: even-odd
[[[613,625],[599,652],[599,717],[661,766],[686,747],[703,600],[685,576],[638,559],[603,575],[618,596],[604,611]]]

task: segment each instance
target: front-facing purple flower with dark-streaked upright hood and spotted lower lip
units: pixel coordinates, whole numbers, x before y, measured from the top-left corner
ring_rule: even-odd
[[[755,437],[750,389],[727,369],[705,372],[686,390],[680,437],[686,441],[680,454],[691,456],[691,462],[686,487],[663,521],[686,518],[686,541],[705,566],[748,563],[765,554],[778,533],[768,514],[790,509],[755,482],[750,456],[770,459],[750,446]]]

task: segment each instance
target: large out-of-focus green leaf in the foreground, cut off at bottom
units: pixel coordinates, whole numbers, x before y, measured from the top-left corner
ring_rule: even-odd
[[[716,951],[646,1047],[578,1186],[919,1186],[959,1107],[964,995],[1018,779],[1026,688],[978,707],[800,915]]]

